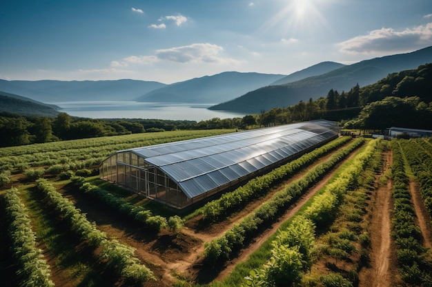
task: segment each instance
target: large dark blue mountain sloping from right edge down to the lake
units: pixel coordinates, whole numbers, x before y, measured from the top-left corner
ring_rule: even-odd
[[[295,105],[300,100],[326,96],[330,89],[349,90],[357,83],[369,85],[392,72],[411,70],[432,63],[432,47],[406,54],[384,56],[347,65],[320,76],[304,78],[284,85],[271,85],[248,92],[239,98],[210,107],[210,109],[240,111],[256,114],[273,107]]]

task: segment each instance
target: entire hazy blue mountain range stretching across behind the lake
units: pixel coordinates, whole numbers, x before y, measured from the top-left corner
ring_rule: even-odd
[[[286,107],[295,105],[300,100],[307,101],[309,98],[326,96],[330,89],[342,92],[348,91],[357,83],[360,86],[369,85],[393,72],[411,70],[425,63],[432,63],[432,46],[411,53],[384,56],[352,65],[322,62],[288,76],[223,72],[170,85],[129,79],[117,81],[0,79],[0,91],[3,92],[0,103],[5,107],[5,100],[17,107],[17,100],[30,99],[44,103],[86,100],[219,103],[210,109],[257,114],[273,107]],[[5,98],[10,94],[14,95],[14,100]],[[21,98],[17,98],[17,95]],[[28,103],[26,106],[29,105]]]

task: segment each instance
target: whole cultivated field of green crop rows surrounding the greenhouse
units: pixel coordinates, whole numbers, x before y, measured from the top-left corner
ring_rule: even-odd
[[[337,138],[182,211],[97,176],[117,150],[225,132],[0,149],[2,284],[432,286],[431,140]]]

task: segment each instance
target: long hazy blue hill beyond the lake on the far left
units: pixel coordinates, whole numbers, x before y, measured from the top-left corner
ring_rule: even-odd
[[[19,94],[45,103],[81,100],[134,100],[166,84],[152,81],[6,81],[0,91]]]

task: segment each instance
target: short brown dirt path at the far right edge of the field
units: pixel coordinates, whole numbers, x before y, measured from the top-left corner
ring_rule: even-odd
[[[418,226],[422,231],[424,246],[432,248],[432,226],[431,226],[431,215],[429,215],[422,195],[420,194],[420,187],[416,180],[409,181],[409,192],[411,193],[411,200],[414,205],[415,215],[417,215]]]

